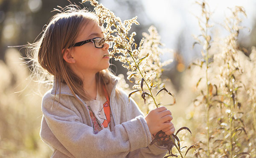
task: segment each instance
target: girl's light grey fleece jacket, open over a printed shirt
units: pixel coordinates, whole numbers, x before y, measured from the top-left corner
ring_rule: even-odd
[[[52,158],[163,158],[166,155],[166,147],[149,145],[151,133],[134,100],[128,103],[128,95],[122,90],[119,99],[116,97],[117,82],[116,76],[111,75],[107,86],[111,92],[114,130],[103,129],[97,134],[93,133],[86,104],[78,102],[64,84],[59,100],[59,84],[54,82],[42,100],[44,115],[40,131],[41,139],[53,150]]]

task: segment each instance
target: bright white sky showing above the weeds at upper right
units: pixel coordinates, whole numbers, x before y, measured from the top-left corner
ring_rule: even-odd
[[[178,38],[182,36],[185,40],[180,51],[185,56],[186,63],[200,56],[200,49],[192,49],[192,45],[195,42],[192,34],[201,34],[198,20],[195,17],[200,16],[201,8],[195,4],[195,0],[140,0],[140,2],[143,3],[147,18],[138,17],[139,23],[153,22],[161,36],[162,42],[166,44],[167,48],[172,48],[173,50],[178,49]],[[230,16],[228,7],[244,7],[247,18],[242,17],[243,22],[241,25],[251,28],[256,20],[256,13],[254,11],[256,0],[208,0],[207,2],[210,6],[210,11],[213,11],[212,22],[215,23],[216,28],[221,28],[225,17]],[[122,6],[121,11],[118,11],[115,0],[102,0],[101,3],[113,11],[116,16],[121,17],[122,20],[132,18],[124,14],[129,9],[128,7]],[[242,37],[247,37],[249,34],[250,31],[248,29],[241,31]],[[221,35],[225,36],[227,32],[221,33]],[[244,40],[248,40],[248,38],[244,38]],[[173,56],[164,54],[163,59],[169,58],[173,58]]]

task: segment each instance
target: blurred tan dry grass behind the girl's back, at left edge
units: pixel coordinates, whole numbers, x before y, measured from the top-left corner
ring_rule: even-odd
[[[41,96],[19,58],[17,50],[8,49],[6,63],[0,60],[0,157],[49,158],[51,151],[39,136]]]

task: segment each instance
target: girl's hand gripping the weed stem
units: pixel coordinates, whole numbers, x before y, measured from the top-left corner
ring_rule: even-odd
[[[172,124],[172,113],[166,107],[158,107],[151,110],[145,117],[151,134],[160,130],[165,130],[167,134],[174,133],[175,128]],[[163,131],[164,132],[164,131]]]

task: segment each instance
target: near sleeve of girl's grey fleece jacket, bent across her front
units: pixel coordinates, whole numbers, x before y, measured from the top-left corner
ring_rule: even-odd
[[[52,106],[53,102],[55,104]],[[42,102],[44,119],[55,138],[49,138],[44,130],[41,138],[49,145],[64,147],[70,154],[69,157],[125,158],[129,152],[147,147],[151,142],[151,134],[143,116],[138,115],[116,125],[112,132],[103,129],[94,134],[93,127],[80,121],[79,114],[72,110],[72,104],[68,96],[61,96],[58,102],[58,99],[54,101],[49,93],[44,96]],[[150,149],[146,150],[142,151],[146,153]]]

